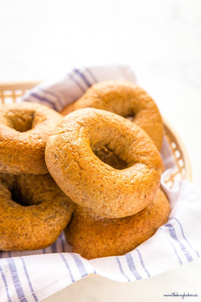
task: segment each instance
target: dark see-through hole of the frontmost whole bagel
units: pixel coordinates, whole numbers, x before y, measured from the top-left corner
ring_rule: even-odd
[[[114,154],[114,152],[108,149],[107,146],[100,147],[93,150],[93,153],[105,164],[110,165],[117,170],[123,170],[127,168],[127,163]]]

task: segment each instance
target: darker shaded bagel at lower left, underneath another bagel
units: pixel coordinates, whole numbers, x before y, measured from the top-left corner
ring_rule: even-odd
[[[0,175],[0,250],[51,245],[65,229],[74,203],[51,175]]]

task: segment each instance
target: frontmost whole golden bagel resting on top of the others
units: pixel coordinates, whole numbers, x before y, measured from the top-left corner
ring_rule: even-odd
[[[102,147],[126,163],[118,170],[95,154]],[[133,215],[154,198],[163,171],[158,150],[136,124],[117,114],[85,108],[71,112],[49,136],[46,165],[75,203],[107,218]]]

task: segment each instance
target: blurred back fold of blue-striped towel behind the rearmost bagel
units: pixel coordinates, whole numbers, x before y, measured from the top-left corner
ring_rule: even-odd
[[[93,66],[73,69],[60,79],[49,79],[37,85],[22,98],[46,105],[56,111],[62,111],[67,105],[80,98],[96,82],[120,79],[136,82],[129,66]]]

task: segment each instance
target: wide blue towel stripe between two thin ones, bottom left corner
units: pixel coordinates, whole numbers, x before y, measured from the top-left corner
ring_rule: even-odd
[[[27,302],[27,299],[24,296],[24,291],[23,291],[22,285],[20,283],[19,276],[17,274],[17,268],[16,268],[14,260],[12,258],[6,258],[6,260],[8,262],[8,266],[11,271],[11,277],[13,280],[15,291],[17,293],[17,297],[20,300],[20,302]]]

